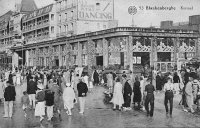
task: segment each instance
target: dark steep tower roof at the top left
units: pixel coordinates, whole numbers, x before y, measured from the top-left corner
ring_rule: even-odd
[[[37,9],[37,6],[35,4],[34,0],[22,0],[21,1],[21,7],[20,12],[30,12]]]

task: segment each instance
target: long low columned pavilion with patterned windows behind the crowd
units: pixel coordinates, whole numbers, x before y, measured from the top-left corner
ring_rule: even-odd
[[[185,56],[198,56],[199,44],[198,31],[118,27],[26,44],[24,49],[36,61],[43,58],[44,66],[106,68],[114,65],[139,73],[145,66],[171,71]],[[21,48],[13,50],[17,52]]]

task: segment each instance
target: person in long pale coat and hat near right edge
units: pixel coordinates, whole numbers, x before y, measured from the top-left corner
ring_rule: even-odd
[[[194,109],[193,109],[193,89],[192,89],[192,83],[193,83],[193,79],[194,79],[194,73],[190,73],[189,74],[189,81],[185,86],[185,96],[186,96],[186,102],[187,105],[189,107],[189,109],[191,110],[191,113],[194,113]]]

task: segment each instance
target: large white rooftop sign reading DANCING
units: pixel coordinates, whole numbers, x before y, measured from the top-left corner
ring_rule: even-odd
[[[78,0],[79,20],[113,20],[113,0]]]

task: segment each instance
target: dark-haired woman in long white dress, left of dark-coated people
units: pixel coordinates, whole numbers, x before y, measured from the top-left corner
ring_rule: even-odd
[[[116,106],[119,106],[119,110],[121,111],[122,104],[124,104],[124,98],[122,94],[122,84],[120,83],[120,79],[116,79],[113,98],[111,100],[113,103],[113,110],[116,110]]]

